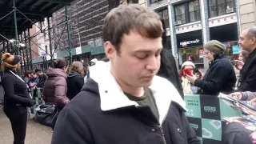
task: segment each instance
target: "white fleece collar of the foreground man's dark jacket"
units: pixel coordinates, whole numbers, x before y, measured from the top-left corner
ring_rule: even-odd
[[[127,106],[138,106],[137,102],[130,101],[121,87],[110,73],[110,62],[97,62],[90,67],[90,78],[98,83],[98,93],[103,111],[115,110]],[[169,111],[170,102],[174,101],[186,111],[186,103],[182,100],[178,90],[165,78],[154,76],[150,90],[158,107],[159,123],[164,121]]]

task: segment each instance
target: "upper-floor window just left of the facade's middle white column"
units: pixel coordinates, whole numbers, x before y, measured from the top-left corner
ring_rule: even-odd
[[[200,5],[198,1],[189,3],[190,22],[197,22],[201,20]]]

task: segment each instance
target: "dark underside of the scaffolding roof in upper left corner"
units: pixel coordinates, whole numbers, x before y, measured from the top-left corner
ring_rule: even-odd
[[[63,5],[73,0],[14,0],[17,14],[18,34],[30,29],[35,22],[43,22]],[[0,33],[6,38],[15,38],[13,1],[0,1]],[[21,12],[21,13],[20,13]],[[6,14],[9,14],[6,16]],[[5,17],[6,16],[6,17]],[[5,18],[3,18],[5,17]],[[29,19],[28,19],[29,18]],[[33,23],[34,22],[34,23]],[[2,40],[2,38],[1,38]]]

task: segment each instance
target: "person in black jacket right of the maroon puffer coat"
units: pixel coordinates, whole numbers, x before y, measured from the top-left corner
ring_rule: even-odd
[[[84,84],[84,70],[82,62],[72,62],[70,74],[66,78],[67,83],[67,93],[66,96],[70,100],[74,98],[82,89]]]

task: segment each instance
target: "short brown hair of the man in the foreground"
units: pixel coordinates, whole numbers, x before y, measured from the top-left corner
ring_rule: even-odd
[[[162,27],[160,17],[144,6],[138,4],[121,5],[106,15],[102,34],[104,42],[110,41],[119,52],[124,34],[134,30],[146,38],[160,38]]]

